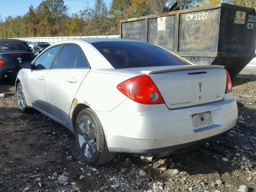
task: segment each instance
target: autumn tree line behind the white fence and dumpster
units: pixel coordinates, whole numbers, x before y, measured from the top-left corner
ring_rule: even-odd
[[[119,34],[119,21],[158,14],[166,0],[95,0],[93,6],[69,15],[63,0],[43,0],[31,5],[23,16],[0,16],[0,38],[38,36],[94,36]],[[176,9],[210,5],[219,2],[256,7],[256,0],[177,0]]]

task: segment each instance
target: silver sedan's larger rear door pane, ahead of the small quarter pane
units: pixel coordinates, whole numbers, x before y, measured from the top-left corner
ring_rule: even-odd
[[[74,45],[64,45],[54,68],[73,68],[80,48]]]

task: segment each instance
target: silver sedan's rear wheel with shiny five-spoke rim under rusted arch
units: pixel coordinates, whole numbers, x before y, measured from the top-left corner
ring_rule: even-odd
[[[90,109],[82,110],[76,119],[76,145],[82,158],[90,165],[99,165],[112,160],[104,131],[98,116]]]

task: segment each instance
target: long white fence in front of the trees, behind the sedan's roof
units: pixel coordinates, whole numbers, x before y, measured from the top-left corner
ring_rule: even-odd
[[[24,38],[12,38],[30,42],[48,42],[54,44],[56,42],[69,40],[69,39],[81,39],[81,38],[120,38],[119,35],[102,35],[102,36],[64,36],[64,37],[24,37]]]

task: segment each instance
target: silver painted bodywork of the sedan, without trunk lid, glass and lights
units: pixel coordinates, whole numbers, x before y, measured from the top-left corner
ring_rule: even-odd
[[[218,102],[174,110],[168,109],[166,104],[138,104],[119,92],[116,86],[143,72],[114,69],[106,58],[85,40],[68,40],[57,44],[64,43],[80,46],[91,69],[80,70],[79,74],[73,69],[41,70],[38,74],[34,73],[33,82],[30,79],[32,70],[20,70],[17,78],[24,88],[27,105],[38,109],[71,131],[74,131],[72,126],[74,107],[77,104],[89,106],[100,118],[111,151],[117,152],[120,148],[140,150],[182,144],[213,136],[235,126],[238,112],[232,93],[225,94],[224,99]],[[49,71],[54,75],[51,74],[48,79]],[[142,69],[142,71],[146,70]],[[63,72],[66,75],[63,75]],[[71,75],[73,72],[74,74]],[[84,75],[81,75],[83,73]],[[44,77],[44,84],[52,85],[44,85],[42,80],[38,80],[41,76]],[[79,79],[77,84],[68,82],[70,77]],[[59,89],[56,89],[54,82],[58,82]],[[72,91],[70,91],[71,87]],[[179,93],[178,90],[176,93]],[[35,106],[34,101],[38,99],[44,100],[46,106]],[[212,111],[214,126],[195,133],[190,115],[206,111]]]

